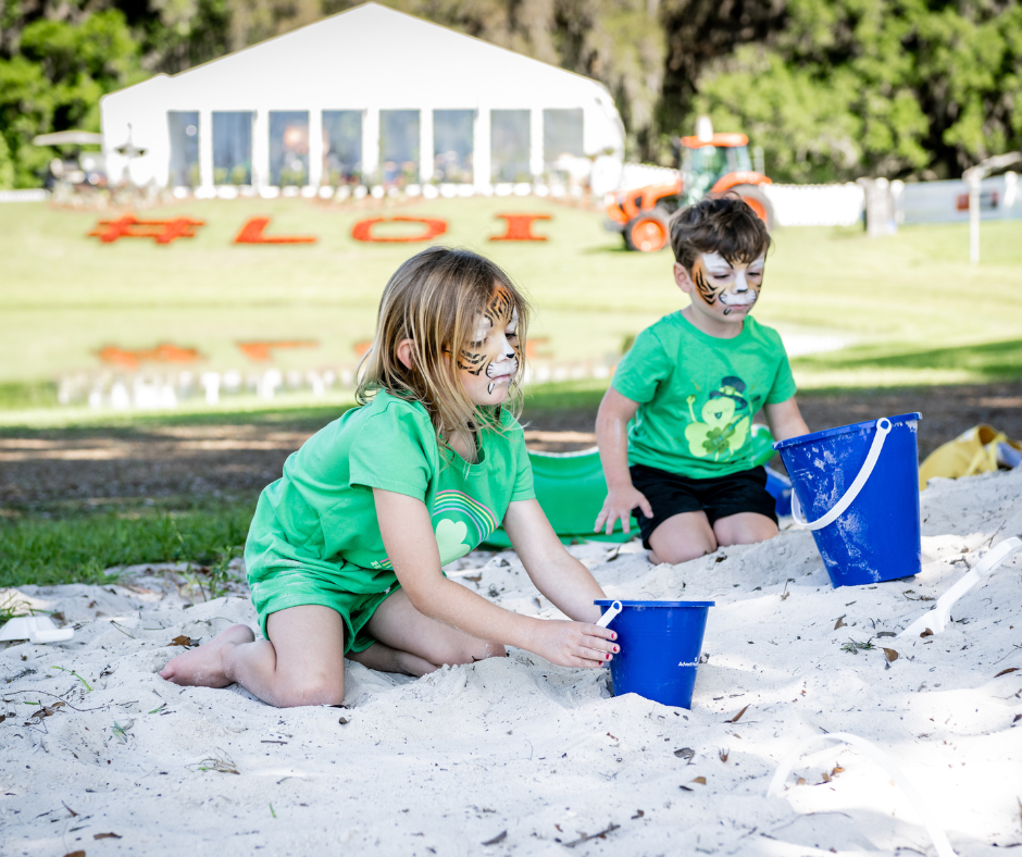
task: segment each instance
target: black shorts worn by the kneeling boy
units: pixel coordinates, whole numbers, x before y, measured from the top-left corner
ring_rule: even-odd
[[[660,524],[683,512],[706,512],[712,526],[721,518],[740,512],[764,514],[774,523],[776,500],[766,492],[766,469],[752,468],[732,473],[694,480],[666,470],[633,464],[632,484],[649,500],[653,517],[647,518],[635,508],[632,517],[643,534],[643,547],[649,549],[649,536]]]

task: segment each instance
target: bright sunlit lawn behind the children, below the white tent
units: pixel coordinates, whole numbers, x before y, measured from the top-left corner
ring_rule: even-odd
[[[500,212],[548,214],[551,220],[534,227],[548,240],[490,241],[502,232]],[[167,246],[88,237],[111,213],[4,204],[0,408],[52,403],[59,377],[103,370],[97,352],[104,346],[170,343],[198,349],[195,369],[244,374],[263,367],[238,343],[300,340],[310,345],[275,351],[273,364],[353,369],[387,277],[422,246],[351,237],[359,220],[389,214],[443,218],[449,229],[440,241],[481,250],[512,274],[536,309],[534,365],[610,367],[635,333],[683,302],[669,251],[625,252],[620,237],[602,229],[600,213],[549,200],[375,208],[188,200],[140,215],[205,222],[197,237]],[[319,240],[234,245],[257,215],[272,218],[267,234]],[[874,239],[827,227],[780,229],[774,237],[757,318],[789,337],[823,336],[847,346],[797,358],[802,388],[983,382],[1022,372],[1022,222],[983,224],[979,266],[968,263],[963,225],[909,227]]]

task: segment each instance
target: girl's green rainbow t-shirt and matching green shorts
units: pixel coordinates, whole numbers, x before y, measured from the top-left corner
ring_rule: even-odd
[[[534,498],[522,427],[479,435],[479,461],[441,452],[426,409],[387,393],[310,437],[269,485],[249,529],[245,561],[253,589],[277,571],[311,568],[344,577],[353,593],[397,581],[379,534],[373,488],[422,500],[446,566],[499,526],[514,500]],[[446,461],[445,461],[446,459]]]

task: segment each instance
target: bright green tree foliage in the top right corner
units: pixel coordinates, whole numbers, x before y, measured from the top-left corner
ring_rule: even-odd
[[[788,0],[694,98],[796,182],[959,175],[1022,148],[1020,105],[1022,7],[998,0]]]

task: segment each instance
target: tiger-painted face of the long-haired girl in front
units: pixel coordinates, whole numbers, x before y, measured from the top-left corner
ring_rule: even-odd
[[[475,318],[470,341],[458,351],[461,383],[476,405],[499,405],[508,397],[508,388],[522,362],[518,325],[519,313],[511,294],[506,288],[496,288]]]

